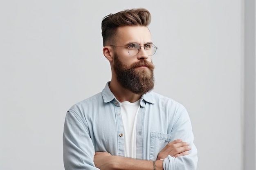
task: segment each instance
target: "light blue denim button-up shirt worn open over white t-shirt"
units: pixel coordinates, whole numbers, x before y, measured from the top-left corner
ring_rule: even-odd
[[[108,84],[101,93],[67,111],[63,132],[65,170],[99,170],[93,162],[98,151],[124,157],[126,134],[121,107]],[[198,157],[191,121],[182,104],[154,92],[142,95],[136,134],[137,159],[156,160],[166,144],[182,139],[191,146],[189,155],[166,157],[164,170],[196,169]]]

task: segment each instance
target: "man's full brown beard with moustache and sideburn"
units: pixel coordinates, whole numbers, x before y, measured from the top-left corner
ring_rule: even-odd
[[[148,68],[137,68],[146,66]],[[117,53],[114,54],[114,71],[119,84],[132,93],[143,95],[154,88],[154,64],[146,60],[140,60],[131,66],[125,66]]]

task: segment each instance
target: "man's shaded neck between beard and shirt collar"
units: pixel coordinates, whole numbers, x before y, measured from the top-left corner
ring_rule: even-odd
[[[141,95],[132,93],[126,88],[123,88],[118,82],[117,79],[111,79],[110,85],[109,85],[110,91],[115,95],[117,100],[119,102],[136,102],[141,98]]]

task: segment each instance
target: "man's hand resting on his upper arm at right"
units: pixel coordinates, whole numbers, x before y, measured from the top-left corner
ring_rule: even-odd
[[[164,159],[168,155],[172,157],[180,157],[189,154],[191,147],[188,143],[182,142],[182,139],[177,139],[167,144],[161,152],[157,155],[157,160]]]

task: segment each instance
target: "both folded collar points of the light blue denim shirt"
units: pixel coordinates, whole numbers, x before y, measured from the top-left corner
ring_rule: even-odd
[[[115,95],[113,95],[113,93],[110,91],[109,84],[110,82],[107,82],[105,88],[102,91],[102,97],[103,97],[104,103],[108,103],[108,102],[111,102],[113,99],[116,99]],[[154,104],[152,93],[153,92],[148,92],[141,96],[140,105],[142,107],[145,106],[145,102]]]

